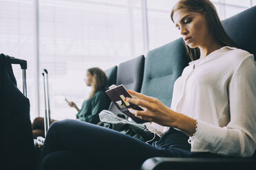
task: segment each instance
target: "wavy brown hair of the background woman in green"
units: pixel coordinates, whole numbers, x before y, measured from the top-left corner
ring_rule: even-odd
[[[107,75],[98,67],[92,67],[87,71],[92,75],[92,92],[89,94],[89,98],[92,98],[98,90],[107,88]]]

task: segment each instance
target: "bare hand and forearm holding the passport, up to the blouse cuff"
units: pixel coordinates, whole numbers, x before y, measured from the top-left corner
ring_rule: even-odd
[[[192,136],[195,132],[195,119],[174,112],[154,97],[148,97],[133,90],[128,90],[128,92],[133,98],[127,97],[125,100],[143,108],[142,111],[129,108],[129,112],[136,117],[146,121],[153,121],[160,125],[178,128],[189,136]]]

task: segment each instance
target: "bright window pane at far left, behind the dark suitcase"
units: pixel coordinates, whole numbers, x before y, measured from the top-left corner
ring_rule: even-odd
[[[36,91],[34,88],[34,6],[33,0],[0,1],[0,46],[1,53],[27,60],[27,86],[30,99],[30,113],[33,119],[36,109]],[[12,65],[18,88],[22,91],[22,71],[18,65]]]

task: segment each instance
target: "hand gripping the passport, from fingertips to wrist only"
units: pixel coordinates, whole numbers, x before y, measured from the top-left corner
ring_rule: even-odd
[[[126,101],[143,108],[142,111],[129,108],[129,112],[146,121],[153,121],[160,125],[175,127],[178,116],[177,112],[174,112],[167,106],[164,106],[160,100],[154,97],[142,95],[141,93],[137,93],[133,90],[128,91],[133,98],[127,97]]]

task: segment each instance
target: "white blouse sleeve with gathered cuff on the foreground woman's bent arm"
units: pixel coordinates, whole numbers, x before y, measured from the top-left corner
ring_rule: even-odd
[[[256,64],[250,54],[233,73],[228,85],[231,121],[217,127],[198,120],[191,151],[225,156],[252,156],[256,145]]]

